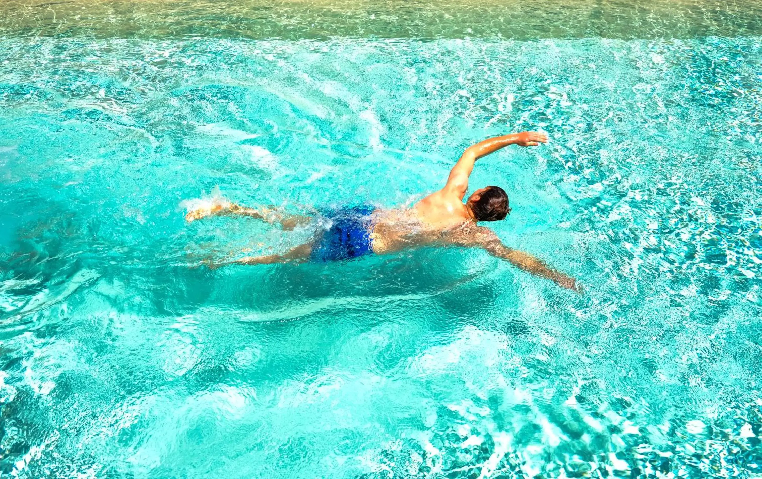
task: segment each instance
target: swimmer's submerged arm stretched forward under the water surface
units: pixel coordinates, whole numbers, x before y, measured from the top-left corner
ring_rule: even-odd
[[[468,246],[479,246],[484,248],[492,256],[508,260],[520,270],[532,273],[534,276],[550,279],[553,283],[581,293],[582,288],[577,284],[577,280],[567,276],[560,271],[554,270],[539,258],[533,257],[529,253],[518,251],[505,246],[489,228],[476,227],[469,235],[466,241],[457,241]]]

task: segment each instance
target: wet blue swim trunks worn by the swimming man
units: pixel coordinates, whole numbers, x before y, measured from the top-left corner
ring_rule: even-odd
[[[347,260],[373,253],[373,206],[354,206],[327,212],[331,228],[315,241],[310,257],[315,261]]]

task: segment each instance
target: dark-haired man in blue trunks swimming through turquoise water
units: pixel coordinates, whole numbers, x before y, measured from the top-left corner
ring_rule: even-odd
[[[574,278],[553,270],[531,254],[505,246],[491,229],[477,225],[478,222],[505,219],[511,212],[504,190],[500,187],[485,187],[476,190],[463,203],[476,160],[507,145],[536,146],[547,141],[545,133],[537,132],[486,139],[466,148],[450,171],[447,184],[415,203],[412,208],[377,209],[373,206],[360,206],[339,209],[328,215],[331,220],[329,228],[309,243],[300,244],[285,254],[248,256],[210,266],[345,260],[365,254],[394,253],[409,247],[456,245],[481,247],[493,256],[510,261],[521,270],[581,292]],[[194,209],[185,219],[192,222],[217,215],[251,216],[265,222],[280,223],[287,230],[312,221],[309,216],[290,216],[277,209],[245,208],[226,202]]]

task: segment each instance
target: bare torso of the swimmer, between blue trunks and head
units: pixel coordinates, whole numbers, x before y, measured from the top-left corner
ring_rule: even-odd
[[[405,247],[445,241],[452,232],[469,225],[475,223],[463,202],[437,191],[410,209],[373,212],[373,231],[370,232],[373,253],[392,253]]]

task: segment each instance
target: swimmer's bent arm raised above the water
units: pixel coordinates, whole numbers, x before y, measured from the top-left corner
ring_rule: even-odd
[[[521,132],[496,136],[495,138],[485,139],[483,142],[469,146],[463,152],[463,155],[455,164],[452,171],[450,171],[450,176],[447,177],[447,184],[443,189],[458,195],[463,200],[466,190],[469,189],[469,176],[471,176],[476,160],[492,152],[497,152],[500,148],[504,148],[507,145],[536,146],[547,141],[548,136],[545,133]]]

